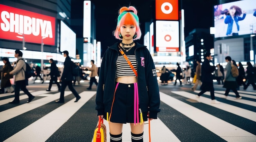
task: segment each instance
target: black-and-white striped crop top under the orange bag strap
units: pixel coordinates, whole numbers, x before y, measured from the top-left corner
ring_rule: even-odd
[[[135,48],[131,49],[129,52],[124,51],[130,62],[132,63],[132,66],[135,68],[137,72],[137,62],[136,62],[136,57],[135,57]],[[118,51],[119,52],[119,51]],[[133,53],[133,55],[130,55]],[[116,77],[122,77],[122,76],[135,76],[134,72],[130,68],[129,64],[127,63],[126,59],[124,59],[124,56],[121,55],[119,52],[118,57],[117,57],[117,72],[116,72]]]

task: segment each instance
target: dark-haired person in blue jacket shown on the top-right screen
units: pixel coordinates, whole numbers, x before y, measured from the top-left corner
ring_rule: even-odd
[[[243,14],[243,17],[239,17]],[[227,17],[225,18],[225,24],[228,24],[226,35],[238,35],[239,24],[238,21],[244,20],[246,16],[246,12],[238,6],[231,6],[229,11],[227,12]]]

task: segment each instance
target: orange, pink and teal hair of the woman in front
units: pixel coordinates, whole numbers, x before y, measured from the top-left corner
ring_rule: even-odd
[[[141,37],[141,30],[139,28],[139,17],[137,15],[137,10],[135,7],[122,7],[119,10],[119,16],[117,18],[117,28],[114,31],[114,36],[116,39],[122,40],[118,34],[120,32],[121,25],[135,25],[136,26],[136,33],[137,37],[133,40],[140,39]]]

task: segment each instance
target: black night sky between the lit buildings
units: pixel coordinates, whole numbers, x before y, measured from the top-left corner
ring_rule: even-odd
[[[184,9],[185,14],[185,37],[194,28],[208,28],[214,26],[213,24],[213,5],[217,4],[218,0],[182,0],[181,7]],[[138,40],[143,44],[143,37],[145,34],[145,22],[151,22],[153,19],[155,0],[91,0],[95,5],[95,18],[96,18],[96,38],[101,42],[102,53],[119,40],[115,39],[112,32],[117,25],[118,10],[123,6],[134,6],[138,10],[140,20],[140,27],[142,36]],[[79,14],[73,15],[72,18],[81,18],[81,6],[83,0],[72,0],[72,12],[75,11]],[[80,9],[80,10],[78,10]],[[81,29],[74,29],[77,36],[82,37]]]

